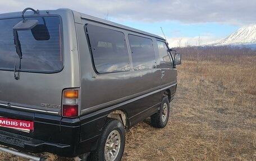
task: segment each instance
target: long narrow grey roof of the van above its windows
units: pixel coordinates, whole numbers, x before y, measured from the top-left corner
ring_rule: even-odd
[[[84,20],[89,20],[89,21],[95,21],[95,22],[99,22],[100,24],[114,26],[114,27],[118,27],[120,29],[125,29],[125,30],[129,30],[129,31],[132,31],[132,32],[135,32],[135,33],[139,33],[139,34],[143,34],[143,35],[148,35],[148,36],[153,36],[155,38],[165,40],[161,36],[158,36],[158,35],[155,35],[155,34],[147,33],[145,31],[134,29],[134,28],[129,27],[129,26],[117,24],[117,23],[112,22],[112,21],[107,21],[107,20],[104,20],[104,19],[100,19],[98,17],[86,15],[84,13],[80,13],[80,12],[77,12],[77,11],[74,11],[74,10],[70,10],[68,8],[60,8],[58,10],[39,10],[39,11],[40,11],[40,15],[42,13],[46,13],[47,11],[49,13],[52,13],[52,14],[58,14],[59,12],[62,12],[62,13],[63,12],[70,12],[70,13],[73,12],[76,20],[77,19],[84,19]],[[30,11],[27,11],[27,12],[26,13],[28,15],[30,15],[31,13],[33,14],[33,12],[30,12]],[[0,19],[7,19],[7,18],[10,18],[10,17],[21,17],[21,13],[22,12],[2,13],[2,14],[0,14]],[[25,15],[27,15],[27,14],[25,14]],[[80,16],[80,17],[77,17],[77,16]]]

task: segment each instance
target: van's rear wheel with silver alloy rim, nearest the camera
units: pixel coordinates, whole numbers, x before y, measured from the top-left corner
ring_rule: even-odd
[[[109,120],[103,128],[97,151],[87,160],[120,161],[125,149],[125,128],[117,119]]]

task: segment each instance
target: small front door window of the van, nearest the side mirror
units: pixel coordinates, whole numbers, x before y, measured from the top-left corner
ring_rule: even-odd
[[[171,58],[167,52],[167,45],[164,42],[157,41],[160,63],[171,63]]]

